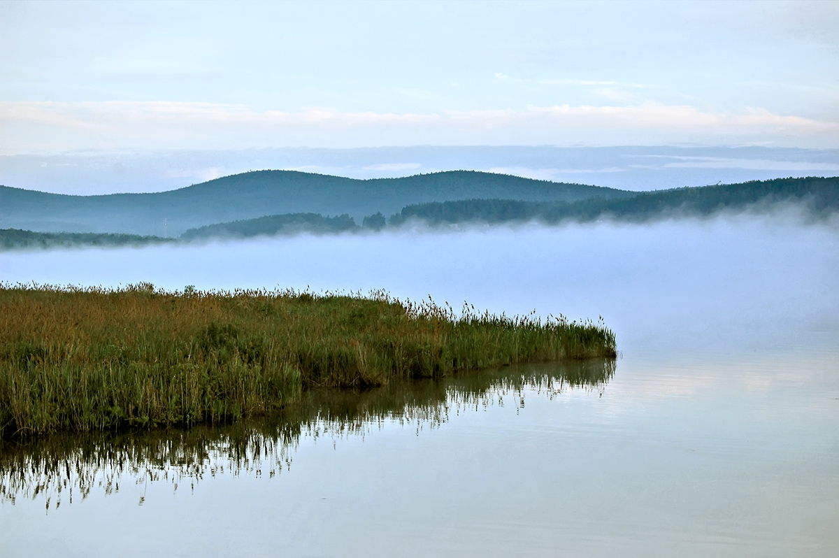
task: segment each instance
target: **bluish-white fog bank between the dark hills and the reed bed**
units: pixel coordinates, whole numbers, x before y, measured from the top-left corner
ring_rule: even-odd
[[[603,316],[636,357],[833,351],[836,269],[839,228],[790,214],[0,254],[9,283],[386,289],[456,309]]]

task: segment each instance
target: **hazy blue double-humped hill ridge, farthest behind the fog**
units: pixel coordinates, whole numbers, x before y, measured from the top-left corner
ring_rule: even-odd
[[[431,201],[578,201],[633,194],[462,170],[375,180],[261,170],[153,194],[64,196],[0,186],[0,228],[176,237],[190,228],[284,213],[346,213],[360,221]]]

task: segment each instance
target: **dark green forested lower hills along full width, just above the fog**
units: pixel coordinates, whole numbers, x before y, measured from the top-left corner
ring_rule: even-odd
[[[432,201],[404,206],[402,211],[393,214],[389,219],[378,211],[363,217],[361,225],[346,212],[337,216],[324,216],[315,212],[284,213],[190,228],[178,239],[133,234],[0,229],[0,249],[142,246],[160,242],[288,235],[300,232],[374,232],[388,227],[401,227],[412,221],[425,222],[432,227],[468,222],[501,224],[538,221],[556,224],[568,221],[591,222],[598,219],[649,222],[663,218],[713,216],[721,212],[767,212],[784,205],[797,207],[811,219],[824,219],[839,211],[839,177],[754,180],[742,184],[627,193],[631,196],[594,197],[577,201],[527,201],[509,198]]]

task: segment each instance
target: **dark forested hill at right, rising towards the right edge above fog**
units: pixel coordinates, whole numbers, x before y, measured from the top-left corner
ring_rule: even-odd
[[[755,180],[733,185],[638,192],[624,199],[581,201],[461,200],[406,206],[390,225],[412,219],[430,225],[464,222],[586,222],[602,218],[644,222],[720,212],[772,211],[795,206],[813,218],[839,212],[839,177]]]

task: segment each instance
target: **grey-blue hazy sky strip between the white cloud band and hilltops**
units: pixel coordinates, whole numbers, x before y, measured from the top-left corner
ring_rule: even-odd
[[[176,190],[249,170],[283,169],[356,179],[478,170],[536,180],[663,190],[839,175],[839,149],[760,146],[413,146],[0,155],[0,185],[91,196]]]

